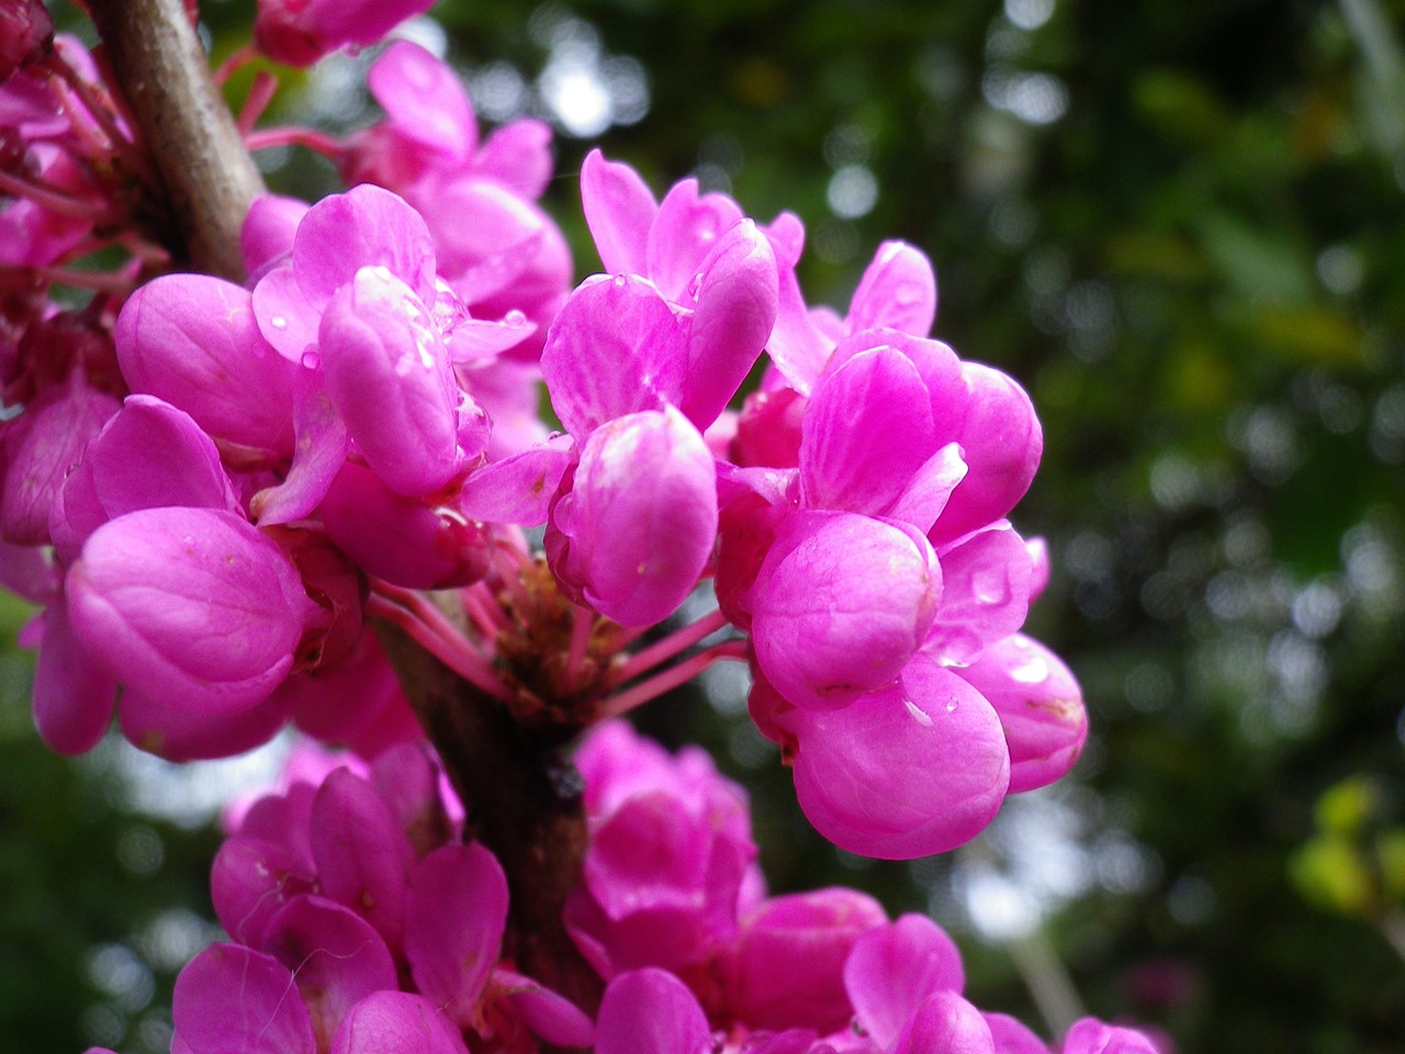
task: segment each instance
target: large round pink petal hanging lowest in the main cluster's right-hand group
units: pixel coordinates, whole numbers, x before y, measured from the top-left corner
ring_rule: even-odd
[[[901,686],[787,720],[798,739],[799,807],[851,853],[944,853],[984,831],[1005,800],[1010,757],[995,710],[920,655]]]

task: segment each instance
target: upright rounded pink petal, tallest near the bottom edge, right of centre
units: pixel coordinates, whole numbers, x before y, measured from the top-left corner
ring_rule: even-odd
[[[960,995],[965,971],[944,929],[926,915],[903,915],[858,937],[844,964],[844,987],[858,1023],[888,1048],[927,996]]]

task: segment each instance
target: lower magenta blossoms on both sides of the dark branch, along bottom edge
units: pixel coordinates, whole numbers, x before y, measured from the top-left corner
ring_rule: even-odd
[[[592,831],[568,922],[608,982],[597,1020],[504,957],[502,868],[458,843],[461,808],[424,749],[370,766],[305,750],[215,859],[230,940],[181,972],[174,1050],[1050,1054],[962,995],[929,918],[837,887],[767,897],[746,797],[701,752],[610,722],[579,763]],[[1054,1050],[1156,1054],[1090,1017]]]

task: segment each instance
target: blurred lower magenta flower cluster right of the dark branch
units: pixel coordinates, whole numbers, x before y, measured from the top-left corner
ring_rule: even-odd
[[[767,897],[745,794],[701,752],[670,757],[606,725],[579,762],[592,842],[568,920],[608,981],[600,1054],[1050,1054],[964,998],[961,956],[932,919],[888,919],[839,887]],[[1087,1017],[1052,1050],[1158,1048]]]

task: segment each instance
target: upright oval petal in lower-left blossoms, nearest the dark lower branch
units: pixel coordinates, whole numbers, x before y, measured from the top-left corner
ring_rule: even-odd
[[[405,956],[420,992],[459,1027],[482,1020],[483,988],[506,925],[507,877],[483,846],[443,846],[414,866]]]

